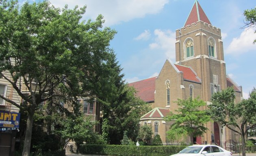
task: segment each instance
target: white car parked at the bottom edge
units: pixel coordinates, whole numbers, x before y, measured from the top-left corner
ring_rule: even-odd
[[[192,145],[171,156],[232,156],[232,153],[216,145]]]

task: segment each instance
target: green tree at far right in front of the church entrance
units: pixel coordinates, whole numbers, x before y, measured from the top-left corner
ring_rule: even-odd
[[[235,92],[228,87],[212,96],[208,105],[208,114],[222,126],[241,135],[242,154],[245,156],[245,136],[249,129],[256,127],[256,89],[249,93],[249,98],[235,104]]]

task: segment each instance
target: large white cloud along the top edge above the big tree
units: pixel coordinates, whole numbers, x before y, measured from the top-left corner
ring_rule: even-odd
[[[127,22],[147,14],[156,14],[163,9],[169,0],[50,0],[54,6],[61,7],[65,4],[69,8],[75,5],[87,6],[85,19],[94,20],[99,14],[104,16],[105,25],[111,26]]]

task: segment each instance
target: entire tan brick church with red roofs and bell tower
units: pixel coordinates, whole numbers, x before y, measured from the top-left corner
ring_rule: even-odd
[[[166,132],[174,121],[165,121],[170,112],[175,113],[177,99],[199,97],[210,104],[213,93],[233,86],[236,103],[243,98],[242,87],[226,75],[221,30],[210,23],[199,2],[195,0],[184,26],[176,30],[176,63],[167,59],[159,75],[132,82],[137,96],[152,106],[140,119],[140,126],[152,126],[164,145],[170,142]],[[202,109],[206,109],[206,106]],[[194,138],[195,144],[216,144],[222,147],[239,143],[239,135],[222,127],[218,122],[206,124],[208,130]],[[189,136],[187,137],[189,143]]]

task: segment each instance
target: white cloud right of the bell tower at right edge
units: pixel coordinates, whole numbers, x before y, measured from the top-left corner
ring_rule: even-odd
[[[233,38],[230,45],[228,45],[225,52],[227,54],[240,55],[246,52],[255,52],[256,45],[253,44],[254,39],[256,39],[256,34],[254,29],[250,28],[244,30],[239,38]]]

